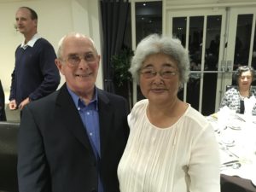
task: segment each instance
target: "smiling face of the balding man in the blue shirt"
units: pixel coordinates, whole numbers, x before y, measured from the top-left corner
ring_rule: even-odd
[[[77,95],[93,94],[100,55],[89,38],[67,37],[63,40],[61,59],[56,65],[65,76],[67,87]]]

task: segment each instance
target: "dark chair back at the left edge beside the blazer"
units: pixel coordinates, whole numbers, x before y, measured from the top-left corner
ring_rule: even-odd
[[[20,124],[0,121],[0,192],[18,192],[17,135]]]

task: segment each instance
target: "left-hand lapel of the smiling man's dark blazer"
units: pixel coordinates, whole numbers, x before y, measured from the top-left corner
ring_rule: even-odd
[[[68,129],[85,148],[90,149],[92,152],[89,137],[87,136],[84,124],[80,119],[79,111],[75,107],[73,99],[68,93],[66,84],[61,87],[59,95],[56,98],[55,116],[63,122],[63,128]]]

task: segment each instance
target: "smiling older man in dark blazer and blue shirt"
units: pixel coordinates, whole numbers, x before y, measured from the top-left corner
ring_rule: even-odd
[[[66,84],[22,112],[19,191],[119,192],[128,102],[96,87],[100,55],[91,38],[67,34],[57,56]]]

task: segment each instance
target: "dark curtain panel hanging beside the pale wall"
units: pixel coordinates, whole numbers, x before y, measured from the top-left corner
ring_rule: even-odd
[[[129,9],[129,0],[101,0],[103,83],[108,92],[114,92],[111,56],[118,55],[122,48]]]

